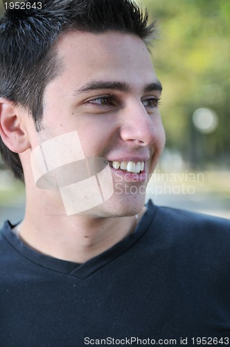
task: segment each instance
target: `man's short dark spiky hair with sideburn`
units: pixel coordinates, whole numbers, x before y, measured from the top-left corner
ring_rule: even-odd
[[[37,131],[43,115],[46,85],[60,71],[56,44],[68,31],[104,33],[118,31],[152,40],[154,22],[148,24],[148,11],[132,0],[42,0],[30,9],[8,9],[0,19],[0,96],[26,108]],[[42,8],[40,8],[42,7]],[[0,137],[3,161],[16,178],[24,180],[17,153]]]

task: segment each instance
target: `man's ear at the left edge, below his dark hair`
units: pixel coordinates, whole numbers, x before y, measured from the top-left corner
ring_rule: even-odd
[[[0,98],[0,136],[12,152],[23,153],[30,148],[19,108],[4,98]]]

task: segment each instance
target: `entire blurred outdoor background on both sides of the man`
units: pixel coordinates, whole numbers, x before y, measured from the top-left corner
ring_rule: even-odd
[[[230,218],[230,1],[137,2],[157,19],[151,51],[166,129],[147,199]],[[24,187],[1,163],[0,223],[23,211]]]

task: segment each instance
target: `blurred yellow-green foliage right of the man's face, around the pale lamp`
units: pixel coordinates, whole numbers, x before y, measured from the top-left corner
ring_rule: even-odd
[[[230,1],[141,0],[157,19],[160,40],[152,56],[163,84],[161,115],[166,146],[200,166],[230,165]],[[217,130],[204,135],[192,122],[197,108],[211,108]],[[197,158],[198,157],[198,158]],[[224,164],[223,164],[224,163]]]

